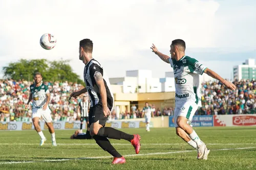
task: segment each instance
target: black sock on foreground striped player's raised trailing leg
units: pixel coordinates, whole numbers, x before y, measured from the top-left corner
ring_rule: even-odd
[[[119,130],[111,128],[111,127],[100,128],[97,135],[108,137],[111,139],[119,139],[119,140],[124,139],[127,141],[131,141],[134,138],[134,135],[124,133],[122,131],[119,131]]]

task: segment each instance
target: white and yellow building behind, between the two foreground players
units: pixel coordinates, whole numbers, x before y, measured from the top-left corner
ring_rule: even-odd
[[[212,78],[203,74],[201,81]],[[175,79],[174,72],[165,72],[164,78],[153,78],[152,70],[127,70],[125,77],[110,78],[111,90],[114,93],[116,115],[130,112],[132,105],[142,109],[145,102],[156,108],[174,107]]]

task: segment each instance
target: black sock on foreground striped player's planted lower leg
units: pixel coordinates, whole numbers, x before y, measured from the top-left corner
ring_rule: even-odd
[[[112,156],[116,158],[121,158],[122,155],[120,155],[116,149],[112,146],[110,141],[103,136],[94,135],[93,138],[96,140],[96,143],[102,148],[104,151],[110,153]]]

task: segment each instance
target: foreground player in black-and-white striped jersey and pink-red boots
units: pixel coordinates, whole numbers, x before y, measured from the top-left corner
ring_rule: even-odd
[[[90,39],[81,40],[79,44],[79,59],[86,65],[83,72],[86,88],[71,93],[70,98],[75,98],[88,91],[91,102],[89,111],[90,134],[104,151],[114,156],[113,164],[125,163],[125,158],[115,150],[108,138],[130,141],[135,148],[136,154],[138,154],[140,136],[138,134],[126,134],[111,127],[104,127],[114,106],[114,97],[110,90],[109,78],[99,62],[92,58],[92,52],[93,42]]]

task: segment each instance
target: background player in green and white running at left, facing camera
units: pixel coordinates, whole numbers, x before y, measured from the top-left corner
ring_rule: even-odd
[[[42,83],[42,76],[40,72],[35,73],[34,80],[35,80],[35,83],[30,85],[29,101],[25,105],[25,108],[26,109],[28,108],[30,101],[33,99],[32,121],[33,121],[35,130],[41,137],[40,146],[44,145],[46,141],[46,137],[42,133],[41,128],[38,124],[39,119],[41,119],[42,117],[45,120],[46,125],[49,128],[49,132],[52,135],[52,145],[56,147],[57,144],[55,139],[54,128],[52,125],[51,110],[48,106],[51,99],[50,91],[48,90],[48,86]]]

